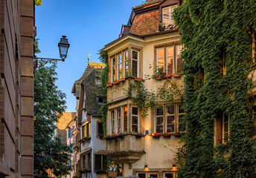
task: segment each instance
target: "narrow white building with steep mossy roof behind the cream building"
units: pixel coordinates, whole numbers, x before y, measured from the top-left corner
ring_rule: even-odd
[[[80,177],[106,177],[106,140],[103,138],[101,105],[105,93],[101,87],[102,63],[89,62],[83,76],[74,83],[72,93],[77,98],[78,133],[76,135],[77,162],[75,172]]]

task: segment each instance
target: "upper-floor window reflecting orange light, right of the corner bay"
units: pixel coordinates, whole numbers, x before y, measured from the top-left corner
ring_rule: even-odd
[[[159,69],[160,72],[164,72],[167,74],[181,73],[183,61],[183,59],[181,58],[181,50],[181,44],[174,44],[174,46],[156,48],[156,69]]]

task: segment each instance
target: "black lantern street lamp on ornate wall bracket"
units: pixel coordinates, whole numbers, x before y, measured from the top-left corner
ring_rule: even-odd
[[[53,64],[53,65],[57,65],[58,61],[65,61],[65,58],[68,55],[68,48],[69,48],[70,44],[68,44],[68,39],[66,39],[66,36],[63,36],[60,39],[60,42],[58,44],[59,50],[60,50],[60,58],[61,59],[51,59],[51,58],[38,58],[38,57],[34,57],[34,61],[33,61],[33,67],[34,69],[36,69],[36,67],[42,66],[42,65],[46,65],[47,63]]]

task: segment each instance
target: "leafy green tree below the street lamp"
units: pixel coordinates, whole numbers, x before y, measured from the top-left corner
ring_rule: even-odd
[[[34,79],[34,176],[48,177],[51,170],[57,177],[68,174],[71,146],[55,136],[56,122],[65,111],[65,93],[54,82],[55,66],[40,66]]]

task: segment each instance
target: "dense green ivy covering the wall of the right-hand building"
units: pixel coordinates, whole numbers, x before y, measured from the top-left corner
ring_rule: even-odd
[[[256,175],[252,81],[247,77],[255,14],[255,0],[185,0],[173,12],[185,60],[187,134],[181,178]],[[214,148],[214,120],[224,111],[231,114],[228,146]]]

